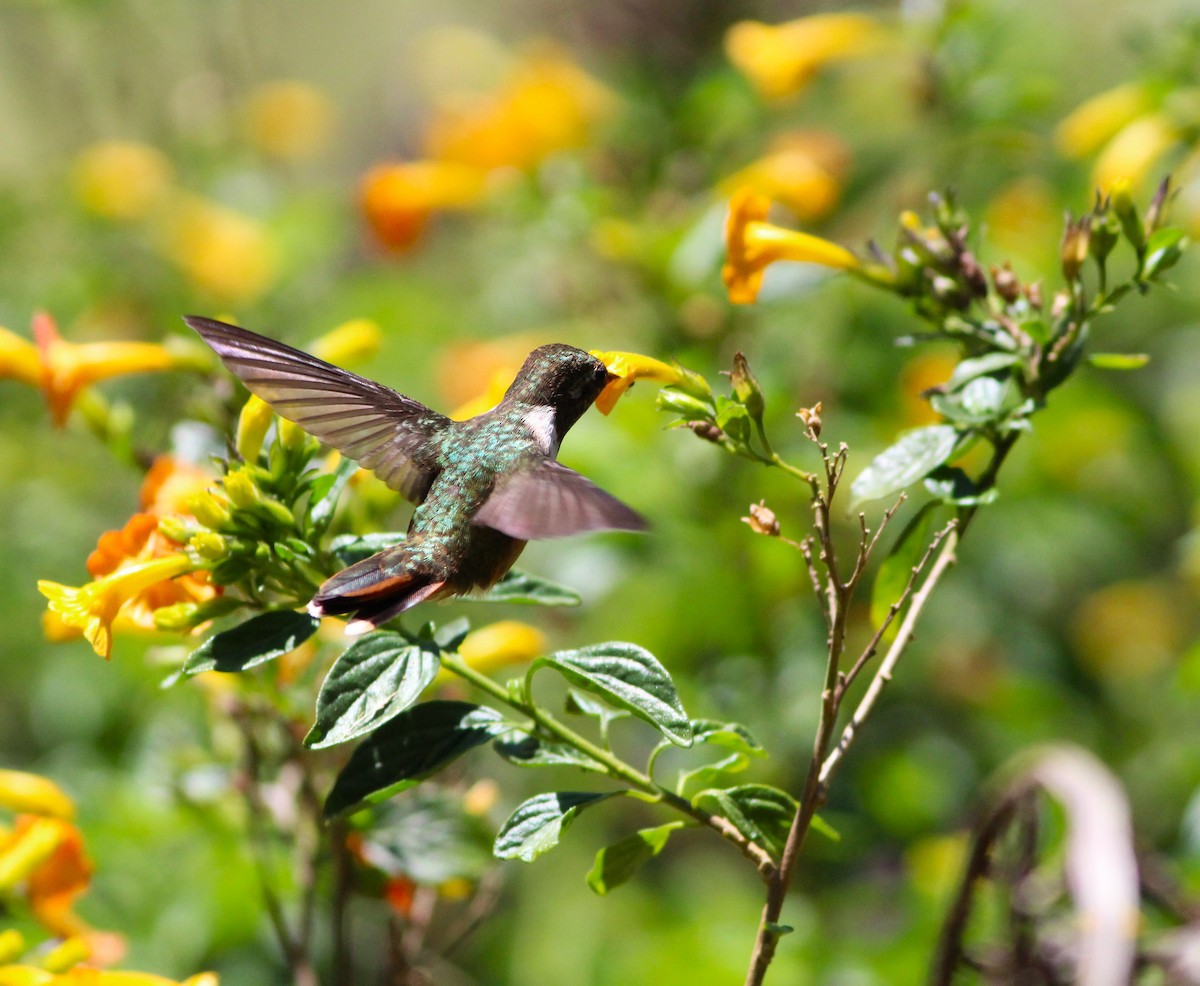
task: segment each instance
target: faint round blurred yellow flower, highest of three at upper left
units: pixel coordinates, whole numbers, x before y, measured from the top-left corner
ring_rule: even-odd
[[[301,161],[324,151],[334,133],[334,106],[308,83],[281,79],[265,83],[242,107],[246,136],[263,154]]]

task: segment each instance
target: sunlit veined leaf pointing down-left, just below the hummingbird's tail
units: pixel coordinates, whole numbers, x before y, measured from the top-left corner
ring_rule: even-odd
[[[409,708],[437,677],[437,650],[377,630],[347,648],[325,675],[305,737],[314,750],[356,739]]]

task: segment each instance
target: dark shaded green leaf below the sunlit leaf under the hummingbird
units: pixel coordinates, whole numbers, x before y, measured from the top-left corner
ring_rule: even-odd
[[[414,705],[380,726],[350,754],[325,799],[325,817],[406,790],[508,728],[500,714],[486,705]]]

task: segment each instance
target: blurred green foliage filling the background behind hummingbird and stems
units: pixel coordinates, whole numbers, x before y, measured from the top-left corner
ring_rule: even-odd
[[[1091,206],[1096,158],[1066,156],[1055,126],[1097,92],[1146,83],[1177,138],[1139,176],[1139,200],[1175,170],[1176,218],[1200,228],[1198,29],[1186,5],[878,6],[894,44],[821,71],[790,101],[761,98],[726,60],[724,29],[808,12],[718,0],[360,2],[336,16],[281,2],[5,4],[0,324],[24,335],[47,309],[77,342],[157,342],[182,337],[185,312],[230,312],[306,343],[371,318],[385,344],[359,372],[445,410],[487,383],[470,368],[481,342],[653,353],[709,379],[742,350],[772,398],[780,451],[815,467],[792,410],[821,401],[826,437],[850,445],[856,473],[929,420],[917,395],[948,365],[934,348],[896,348],[914,331],[910,313],[850,278],[779,266],[758,305],[728,305],[719,188],[773,142],[820,132],[836,143],[836,205],[806,228],[859,248],[930,188],[953,187],[984,221],[972,246],[985,264],[1010,259],[1022,279],[1052,282],[1061,214]],[[486,70],[486,59],[455,64],[446,35],[427,34],[451,20],[514,49],[548,35],[619,103],[584,145],[390,253],[355,190],[380,161],[420,157],[431,107]],[[311,155],[274,156],[247,122],[247,101],[278,79],[328,100],[330,139]],[[156,149],[188,197],[247,217],[250,239],[270,244],[270,276],[215,284],[179,260],[169,230],[89,211],[77,161],[113,139]],[[1148,366],[1085,371],[1018,446],[834,786],[823,814],[841,840],[806,847],[778,980],[919,978],[983,778],[1048,740],[1100,756],[1126,784],[1142,844],[1200,889],[1196,263],[1174,271],[1177,291],[1130,299],[1097,329],[1097,348],[1147,353]],[[124,637],[106,665],[85,644],[42,637],[36,579],[83,581],[97,534],[133,511],[148,457],[186,445],[169,427],[220,421],[228,397],[184,374],[100,390],[132,410],[119,467],[79,415],[55,431],[35,390],[0,381],[0,760],[77,799],[98,862],[83,913],[128,936],[132,967],[282,982],[228,790],[232,740],[204,695],[158,686],[180,651]],[[638,389],[611,417],[581,421],[563,461],[636,505],[654,533],[530,546],[523,567],[584,597],[577,611],[539,612],[551,645],[646,647],[694,714],[752,725],[773,757],[748,777],[797,789],[824,631],[797,558],[738,518],[766,499],[799,536],[806,501],[774,470],[664,432]],[[480,770],[496,769],[505,804],[493,828],[541,789],[517,770]],[[504,864],[499,906],[452,961],[486,982],[733,981],[761,892],[716,840],[677,836],[610,898],[586,889],[592,847],[661,820],[638,812],[584,816],[550,859]]]

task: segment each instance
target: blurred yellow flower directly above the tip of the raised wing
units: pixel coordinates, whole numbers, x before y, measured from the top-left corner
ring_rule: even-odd
[[[222,302],[253,301],[277,272],[275,241],[262,222],[197,197],[174,203],[164,217],[163,246],[197,288]]]

